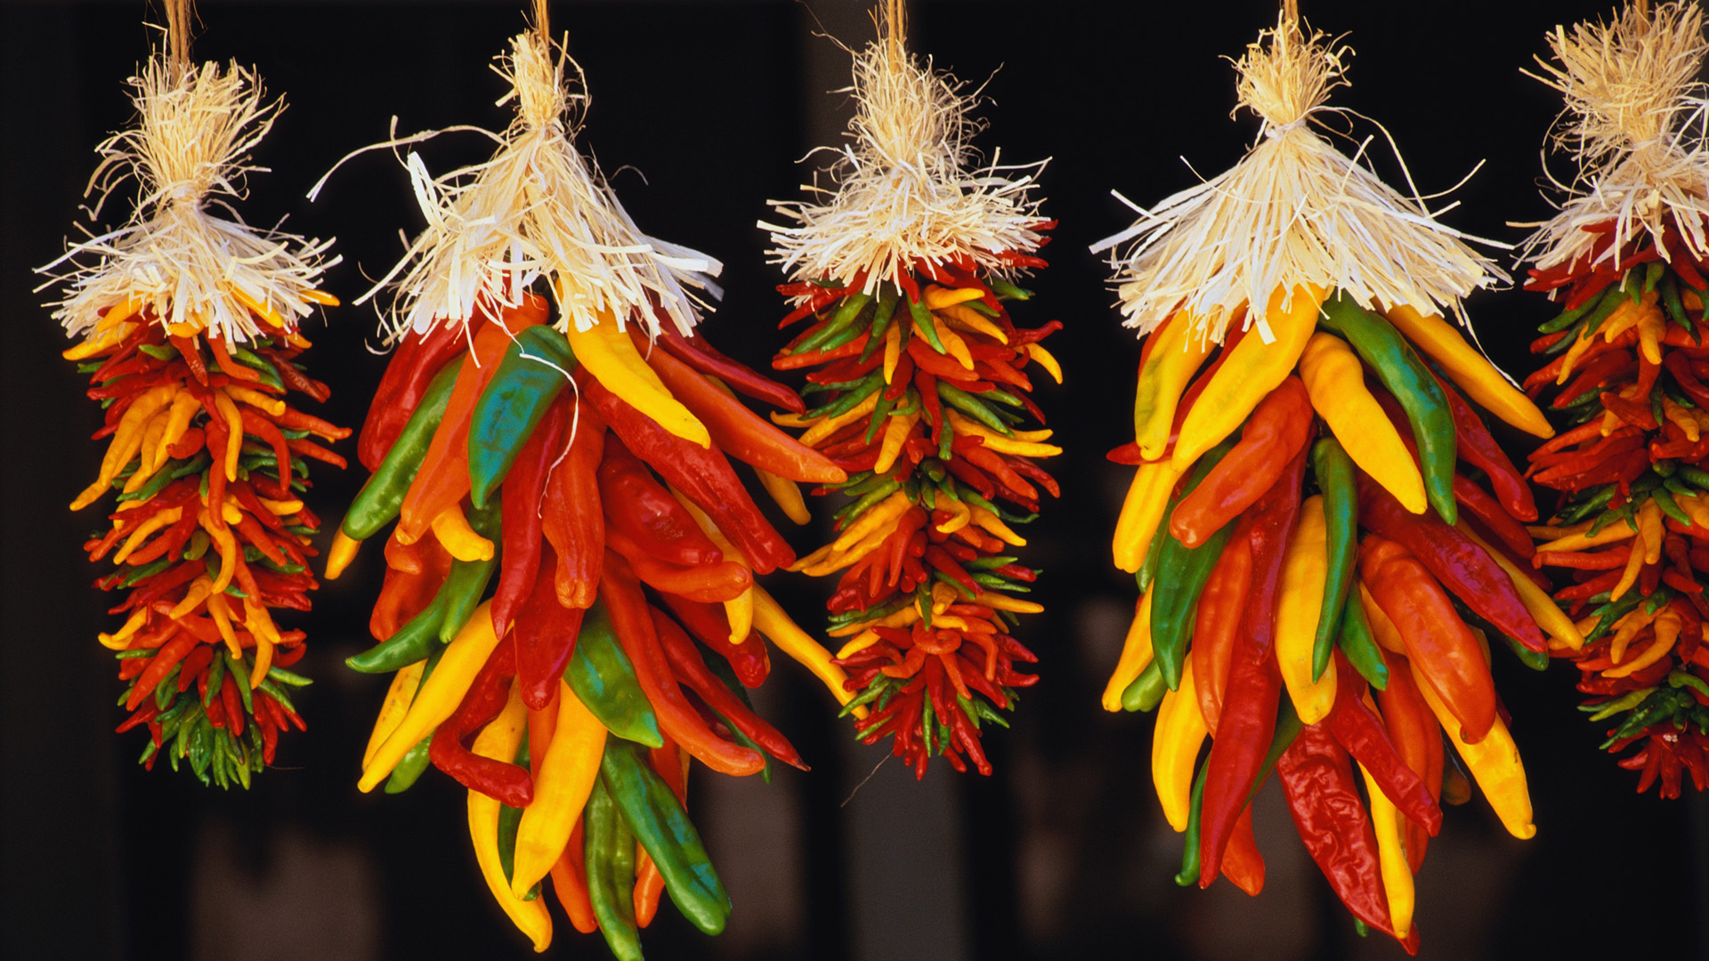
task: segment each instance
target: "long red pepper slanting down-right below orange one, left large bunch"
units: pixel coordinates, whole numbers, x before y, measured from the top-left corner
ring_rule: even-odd
[[[579,378],[579,383],[583,395],[624,445],[699,504],[725,537],[742,549],[754,573],[769,575],[795,563],[795,551],[754,504],[723,453],[660,427],[596,378]]]

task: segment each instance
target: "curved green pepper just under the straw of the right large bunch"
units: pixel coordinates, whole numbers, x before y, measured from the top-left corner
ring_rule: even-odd
[[[1449,525],[1459,518],[1454,503],[1454,416],[1442,386],[1430,376],[1418,354],[1389,321],[1360,308],[1352,298],[1336,294],[1324,301],[1324,327],[1340,332],[1354,351],[1377,371],[1383,386],[1400,400],[1418,441],[1424,489],[1430,506]]]

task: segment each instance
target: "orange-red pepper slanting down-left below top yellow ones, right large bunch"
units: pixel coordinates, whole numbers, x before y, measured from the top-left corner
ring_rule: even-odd
[[[1188,547],[1208,540],[1275,484],[1289,462],[1306,450],[1313,427],[1306,385],[1289,376],[1258,402],[1241,441],[1191,494],[1181,498],[1169,516],[1169,534]]]

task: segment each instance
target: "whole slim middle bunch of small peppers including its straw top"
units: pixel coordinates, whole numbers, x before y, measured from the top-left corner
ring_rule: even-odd
[[[815,407],[774,419],[849,474],[815,491],[849,501],[795,569],[841,575],[831,636],[848,638],[844,713],[872,710],[861,739],[892,737],[918,776],[933,754],[990,775],[981,725],[1008,727],[998,711],[1037,681],[1015,669],[1037,660],[1015,616],[1042,607],[1013,597],[1037,571],[1012,554],[1025,539],[1010,525],[1060,494],[1034,458],[1061,453],[1049,429],[1022,429],[1044,422],[1025,368],[1061,381],[1039,344],[1061,323],[1015,327],[1005,304],[1031,296],[1010,279],[1044,267],[1034,251],[1053,224],[1029,176],[967,171],[969,103],[907,55],[899,3],[884,32],[854,60],[856,147],[836,195],[774,203],[796,226],[761,224],[796,279],[778,287],[795,303],[779,327],[812,321],[772,366],[812,369]]]

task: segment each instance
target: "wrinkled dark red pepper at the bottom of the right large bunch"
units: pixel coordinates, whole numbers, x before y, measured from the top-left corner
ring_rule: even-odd
[[[1294,826],[1336,896],[1355,918],[1393,937],[1376,834],[1354,785],[1347,752],[1324,725],[1306,725],[1277,761],[1277,776],[1287,793]],[[1418,951],[1417,932],[1418,927],[1413,925],[1401,942],[1408,952]]]

